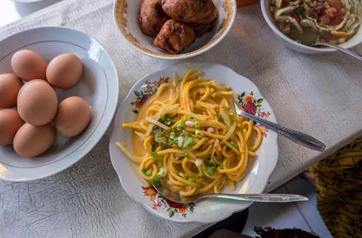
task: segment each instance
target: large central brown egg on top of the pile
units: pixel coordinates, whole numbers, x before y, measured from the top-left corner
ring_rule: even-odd
[[[33,126],[48,124],[57,114],[58,99],[54,89],[40,79],[23,85],[18,94],[18,112]]]

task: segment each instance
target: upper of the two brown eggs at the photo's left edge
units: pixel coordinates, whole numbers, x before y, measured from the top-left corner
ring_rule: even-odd
[[[23,81],[15,74],[0,74],[0,107],[15,107],[21,86],[23,86]]]

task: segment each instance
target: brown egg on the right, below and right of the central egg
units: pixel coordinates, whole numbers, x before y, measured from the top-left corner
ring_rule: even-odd
[[[91,108],[81,97],[68,97],[59,103],[55,126],[63,136],[77,136],[91,121]]]

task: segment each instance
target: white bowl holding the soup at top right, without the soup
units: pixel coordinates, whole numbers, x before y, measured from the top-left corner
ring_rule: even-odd
[[[270,0],[260,0],[260,6],[262,7],[262,13],[264,19],[267,21],[267,24],[274,32],[274,34],[290,49],[295,50],[296,52],[305,53],[305,54],[320,54],[320,53],[328,53],[328,52],[336,52],[337,49],[327,49],[327,48],[317,48],[317,47],[308,47],[304,44],[300,44],[295,40],[284,35],[275,25],[274,20],[271,18],[271,13],[269,11]],[[356,35],[351,39],[347,40],[346,43],[340,44],[340,47],[344,47],[346,49],[350,49],[355,47],[362,42],[362,30],[358,30]]]

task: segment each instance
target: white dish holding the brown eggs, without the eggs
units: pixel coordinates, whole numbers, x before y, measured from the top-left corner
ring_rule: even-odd
[[[93,38],[69,28],[47,27],[25,30],[0,42],[0,73],[11,71],[11,56],[19,49],[39,52],[47,61],[70,52],[81,58],[81,81],[69,90],[57,90],[59,101],[78,95],[91,104],[92,119],[86,131],[74,138],[57,136],[46,153],[34,158],[18,156],[12,146],[0,147],[0,179],[29,181],[66,169],[86,155],[102,138],[118,103],[117,70],[109,54]]]

